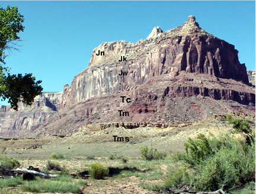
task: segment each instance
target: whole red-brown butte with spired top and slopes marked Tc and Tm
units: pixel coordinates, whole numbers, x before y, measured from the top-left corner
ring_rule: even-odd
[[[123,103],[121,96],[131,102]],[[165,32],[153,28],[136,43],[103,42],[92,51],[89,67],[64,86],[58,99],[54,114],[27,128],[38,135],[68,134],[92,123],[172,123],[228,112],[255,114],[255,87],[249,85],[238,51],[200,28],[193,16]],[[26,128],[20,126],[17,130]],[[4,124],[6,130],[14,127]]]

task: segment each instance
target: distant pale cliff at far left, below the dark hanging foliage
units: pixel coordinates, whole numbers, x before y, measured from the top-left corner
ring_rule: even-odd
[[[30,131],[33,127],[39,126],[47,118],[59,110],[60,93],[43,93],[34,98],[34,103],[27,106],[19,103],[19,111],[14,111],[10,106],[1,106],[0,108],[0,131],[2,135],[17,133],[24,130]]]

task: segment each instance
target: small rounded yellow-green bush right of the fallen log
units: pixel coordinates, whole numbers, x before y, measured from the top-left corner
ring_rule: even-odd
[[[89,168],[89,175],[94,179],[104,179],[108,172],[108,167],[104,167],[100,163],[92,163]]]

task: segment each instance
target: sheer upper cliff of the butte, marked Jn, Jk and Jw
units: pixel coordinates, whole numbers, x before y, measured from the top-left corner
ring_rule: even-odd
[[[166,32],[154,29],[147,40],[104,42],[95,48],[89,68],[65,88],[62,105],[131,89],[152,77],[175,76],[181,71],[248,83],[245,64],[239,63],[235,47],[205,32],[194,17]],[[104,55],[96,55],[98,51]],[[127,61],[120,62],[121,56]],[[121,70],[127,75],[119,76]]]

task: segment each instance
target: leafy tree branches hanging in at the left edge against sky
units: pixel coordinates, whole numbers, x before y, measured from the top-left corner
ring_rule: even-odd
[[[0,8],[0,97],[2,100],[8,99],[14,110],[18,110],[19,101],[31,105],[34,97],[43,90],[39,85],[41,81],[36,81],[32,74],[11,75],[9,68],[5,66],[5,58],[8,57],[5,51],[17,50],[15,42],[20,41],[18,32],[24,31],[22,22],[24,18],[17,6]]]

